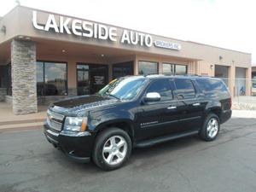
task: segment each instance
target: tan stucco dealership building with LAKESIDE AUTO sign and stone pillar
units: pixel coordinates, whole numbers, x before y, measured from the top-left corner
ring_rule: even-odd
[[[222,78],[232,95],[245,79],[249,95],[251,54],[23,6],[0,18],[0,101],[15,114],[151,73]]]

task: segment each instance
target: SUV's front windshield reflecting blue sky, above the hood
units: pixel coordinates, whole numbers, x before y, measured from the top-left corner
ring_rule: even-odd
[[[98,92],[101,96],[113,96],[121,100],[131,100],[142,90],[145,78],[114,79]]]

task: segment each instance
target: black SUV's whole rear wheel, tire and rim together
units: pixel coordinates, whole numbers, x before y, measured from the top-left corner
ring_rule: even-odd
[[[213,141],[218,136],[219,128],[220,125],[218,116],[214,113],[209,113],[201,128],[201,131],[199,132],[199,136],[204,141]]]

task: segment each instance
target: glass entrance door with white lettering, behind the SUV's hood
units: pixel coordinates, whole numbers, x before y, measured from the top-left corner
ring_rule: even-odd
[[[108,84],[108,66],[98,64],[77,65],[78,96],[94,94]]]

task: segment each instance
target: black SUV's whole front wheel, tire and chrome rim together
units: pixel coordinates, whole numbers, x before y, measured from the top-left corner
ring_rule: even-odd
[[[92,159],[96,166],[112,171],[124,166],[131,155],[131,137],[119,128],[108,128],[96,137]]]

